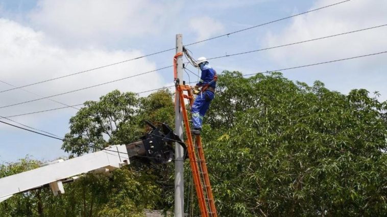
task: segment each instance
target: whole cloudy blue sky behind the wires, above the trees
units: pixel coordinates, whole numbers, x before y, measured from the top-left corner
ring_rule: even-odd
[[[340,2],[317,1],[6,1],[0,0],[0,80],[21,86],[44,79],[131,59]],[[207,58],[387,24],[387,1],[352,0],[331,8],[189,46]],[[218,71],[254,73],[387,50],[387,27],[321,41],[211,61]],[[58,79],[25,89],[53,95],[172,64],[174,51]],[[321,80],[331,90],[379,91],[387,99],[387,55],[283,71],[311,85]],[[191,68],[191,70],[193,70]],[[186,78],[187,79],[187,78]],[[191,76],[191,79],[194,79]],[[66,104],[96,100],[119,89],[139,92],[171,85],[172,69],[104,85],[53,99]],[[11,88],[0,84],[0,90]],[[23,90],[0,93],[0,107],[37,98]],[[1,116],[61,107],[49,100],[0,108]],[[76,110],[66,108],[14,118],[15,121],[63,136]],[[4,120],[4,119],[3,119]],[[0,162],[31,155],[40,160],[66,156],[61,142],[0,125]]]

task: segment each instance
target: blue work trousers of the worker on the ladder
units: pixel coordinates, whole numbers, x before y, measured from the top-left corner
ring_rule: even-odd
[[[203,118],[215,96],[211,91],[200,92],[192,105],[192,126],[202,128]]]

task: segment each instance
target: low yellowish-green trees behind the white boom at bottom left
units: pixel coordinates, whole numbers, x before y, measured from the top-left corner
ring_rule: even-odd
[[[2,165],[0,178],[39,167],[36,160],[21,159]],[[161,200],[154,175],[131,168],[110,174],[83,174],[66,183],[65,194],[55,197],[48,187],[16,194],[0,204],[0,216],[143,216]]]

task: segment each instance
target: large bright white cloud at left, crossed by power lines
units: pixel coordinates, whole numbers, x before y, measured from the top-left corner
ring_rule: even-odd
[[[55,46],[46,39],[46,35],[42,32],[36,32],[14,21],[0,18],[0,50],[2,50],[0,52],[0,65],[2,66],[0,79],[16,86],[22,86],[143,55],[138,50],[69,49]],[[49,96],[154,69],[156,69],[155,64],[142,58],[25,89]],[[133,92],[156,89],[164,83],[161,73],[166,73],[166,71],[168,70],[54,97],[54,99],[71,105],[82,103],[85,100],[96,100],[99,96],[114,89]],[[9,88],[11,87],[0,84],[0,90]],[[38,98],[21,90],[0,93],[0,97],[0,106]],[[63,105],[52,101],[39,100],[0,108],[0,115],[8,116],[61,106]],[[74,111],[71,112],[74,114]]]

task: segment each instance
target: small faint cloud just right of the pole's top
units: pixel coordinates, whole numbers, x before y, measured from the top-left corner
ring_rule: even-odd
[[[189,21],[189,26],[197,35],[197,40],[210,38],[211,36],[224,32],[224,25],[210,17],[192,18]]]

